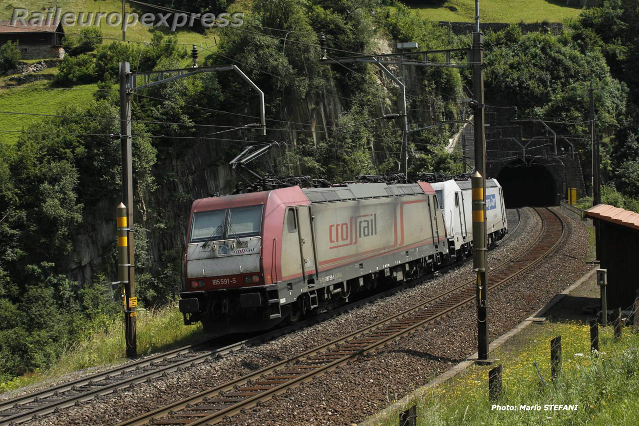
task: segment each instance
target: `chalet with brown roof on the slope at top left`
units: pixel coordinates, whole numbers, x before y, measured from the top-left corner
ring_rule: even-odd
[[[0,20],[0,46],[6,42],[18,42],[22,59],[62,58],[62,38],[65,30],[61,23],[51,22],[49,25],[11,24],[9,20]]]

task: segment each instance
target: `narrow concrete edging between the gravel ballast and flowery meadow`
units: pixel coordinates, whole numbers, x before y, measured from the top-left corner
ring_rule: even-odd
[[[555,306],[562,299],[564,299],[564,297],[566,297],[570,292],[572,292],[575,288],[579,287],[581,284],[585,283],[585,281],[587,281],[593,274],[595,274],[595,272],[597,272],[597,267],[599,266],[596,265],[595,267],[590,269],[589,272],[586,272],[586,274],[582,276],[579,280],[575,281],[573,284],[567,287],[566,290],[562,291],[559,294],[556,294],[555,297],[550,299],[550,302],[546,303],[546,305],[543,306],[543,308],[537,310],[537,312],[535,312],[534,314],[530,315],[530,317],[520,322],[520,324],[510,329],[503,335],[499,336],[497,339],[493,340],[493,342],[491,342],[489,345],[490,351],[493,351],[497,349],[498,347],[500,347],[501,345],[503,345],[505,342],[507,342],[507,340],[509,340],[509,338],[516,335],[521,330],[528,327],[530,324],[534,324],[535,322],[539,322],[541,319],[543,319],[543,315],[546,312],[548,312],[553,306]],[[473,363],[475,363],[475,359],[477,359],[477,352],[468,356],[466,361],[461,361],[461,363],[450,368],[450,370],[447,370],[446,372],[443,372],[442,374],[438,375],[437,377],[435,377],[435,379],[424,384],[424,386],[422,386],[421,388],[418,388],[412,391],[411,393],[401,398],[399,401],[395,402],[394,404],[386,407],[379,413],[373,414],[373,416],[367,418],[366,420],[364,420],[364,422],[359,423],[358,426],[380,425],[390,415],[404,411],[408,407],[412,406],[412,404],[414,404],[417,400],[419,400],[422,397],[422,395],[427,393],[427,391],[430,388],[433,388],[433,386],[436,386],[437,384],[441,384],[447,381],[448,379],[451,379],[452,377],[455,377],[459,373],[463,372],[463,370],[465,370],[466,368],[473,365]]]

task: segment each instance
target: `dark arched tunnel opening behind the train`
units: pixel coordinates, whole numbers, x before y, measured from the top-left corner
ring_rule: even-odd
[[[509,164],[497,175],[504,188],[506,207],[555,205],[555,178],[539,164]]]

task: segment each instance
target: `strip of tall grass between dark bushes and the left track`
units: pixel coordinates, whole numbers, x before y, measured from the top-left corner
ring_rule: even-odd
[[[137,312],[137,352],[140,355],[185,345],[205,336],[201,324],[188,327],[183,324],[177,304]],[[0,383],[0,391],[50,381],[84,368],[112,365],[124,361],[125,356],[122,316],[107,321],[104,331],[70,347],[49,370],[36,371],[16,377],[8,383]]]

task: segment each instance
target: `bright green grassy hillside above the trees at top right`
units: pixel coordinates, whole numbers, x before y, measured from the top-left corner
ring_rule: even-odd
[[[404,1],[418,15],[429,20],[474,22],[475,0],[442,0],[433,5]],[[481,22],[561,22],[579,15],[581,8],[566,6],[565,0],[480,0]]]

